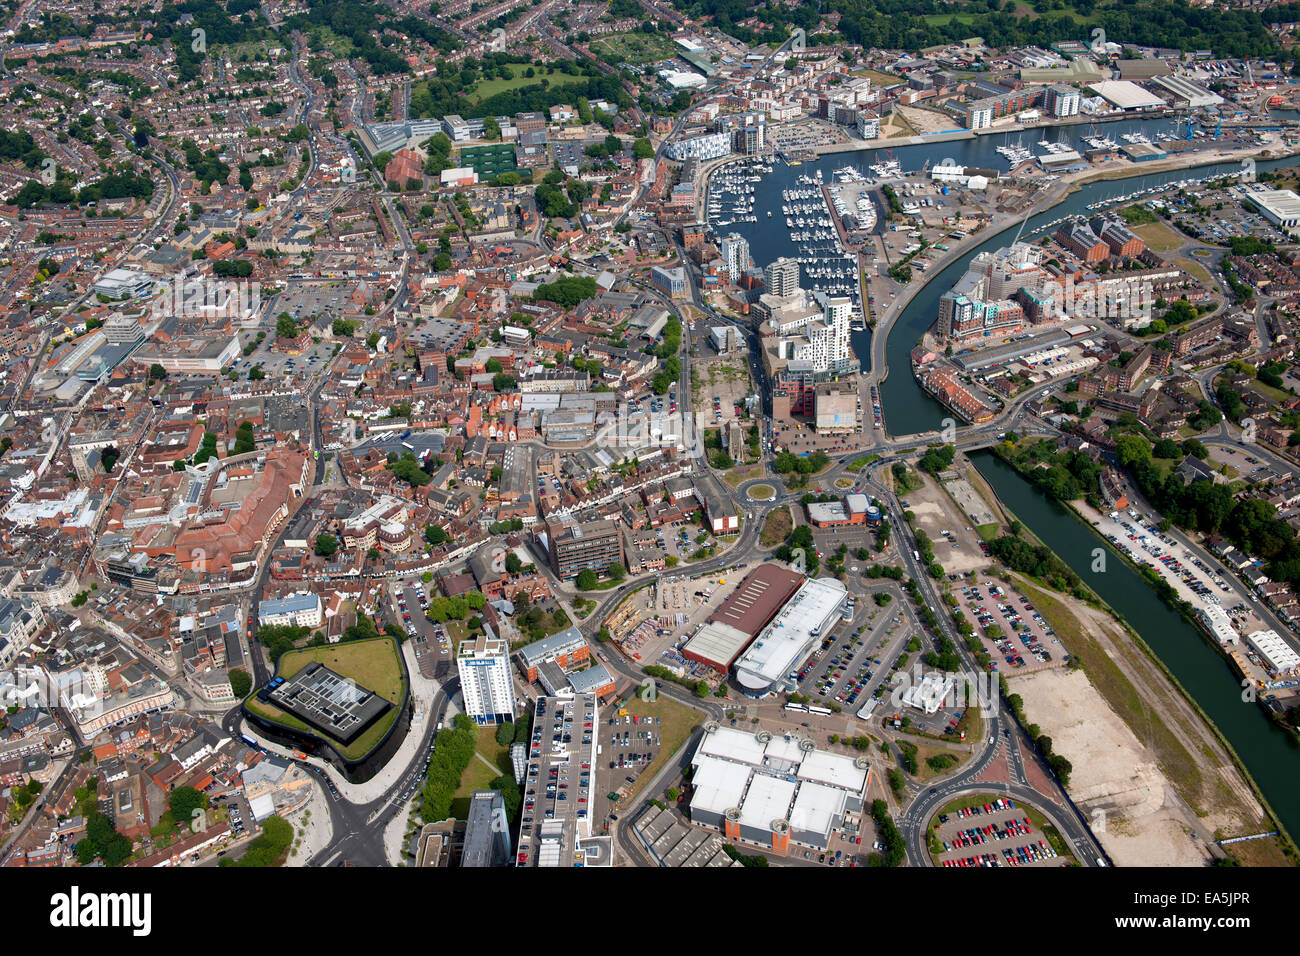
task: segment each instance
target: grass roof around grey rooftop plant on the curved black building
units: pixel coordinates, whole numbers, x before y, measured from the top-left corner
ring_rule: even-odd
[[[276,705],[257,700],[256,695],[248,698],[247,706],[269,721],[315,734],[326,740],[344,760],[358,760],[374,749],[402,713],[399,705],[406,698],[406,674],[402,670],[399,654],[398,645],[391,637],[376,637],[365,641],[332,644],[324,648],[290,650],[280,658],[280,665],[276,669],[277,676],[291,678],[309,663],[322,663],[394,705],[389,713],[347,747],[337,740],[330,740],[318,730],[307,726]]]

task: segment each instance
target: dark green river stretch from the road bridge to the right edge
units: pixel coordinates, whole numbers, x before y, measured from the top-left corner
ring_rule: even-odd
[[[1074,568],[1128,624],[1178,678],[1249,769],[1282,825],[1300,834],[1300,747],[1254,704],[1242,700],[1242,688],[1227,663],[1192,624],[1156,597],[1118,555],[1110,554],[1105,574],[1092,572],[1092,550],[1102,545],[1074,515],[1030,484],[992,451],[971,460],[998,498],[1014,502],[1015,516],[1039,540]]]

